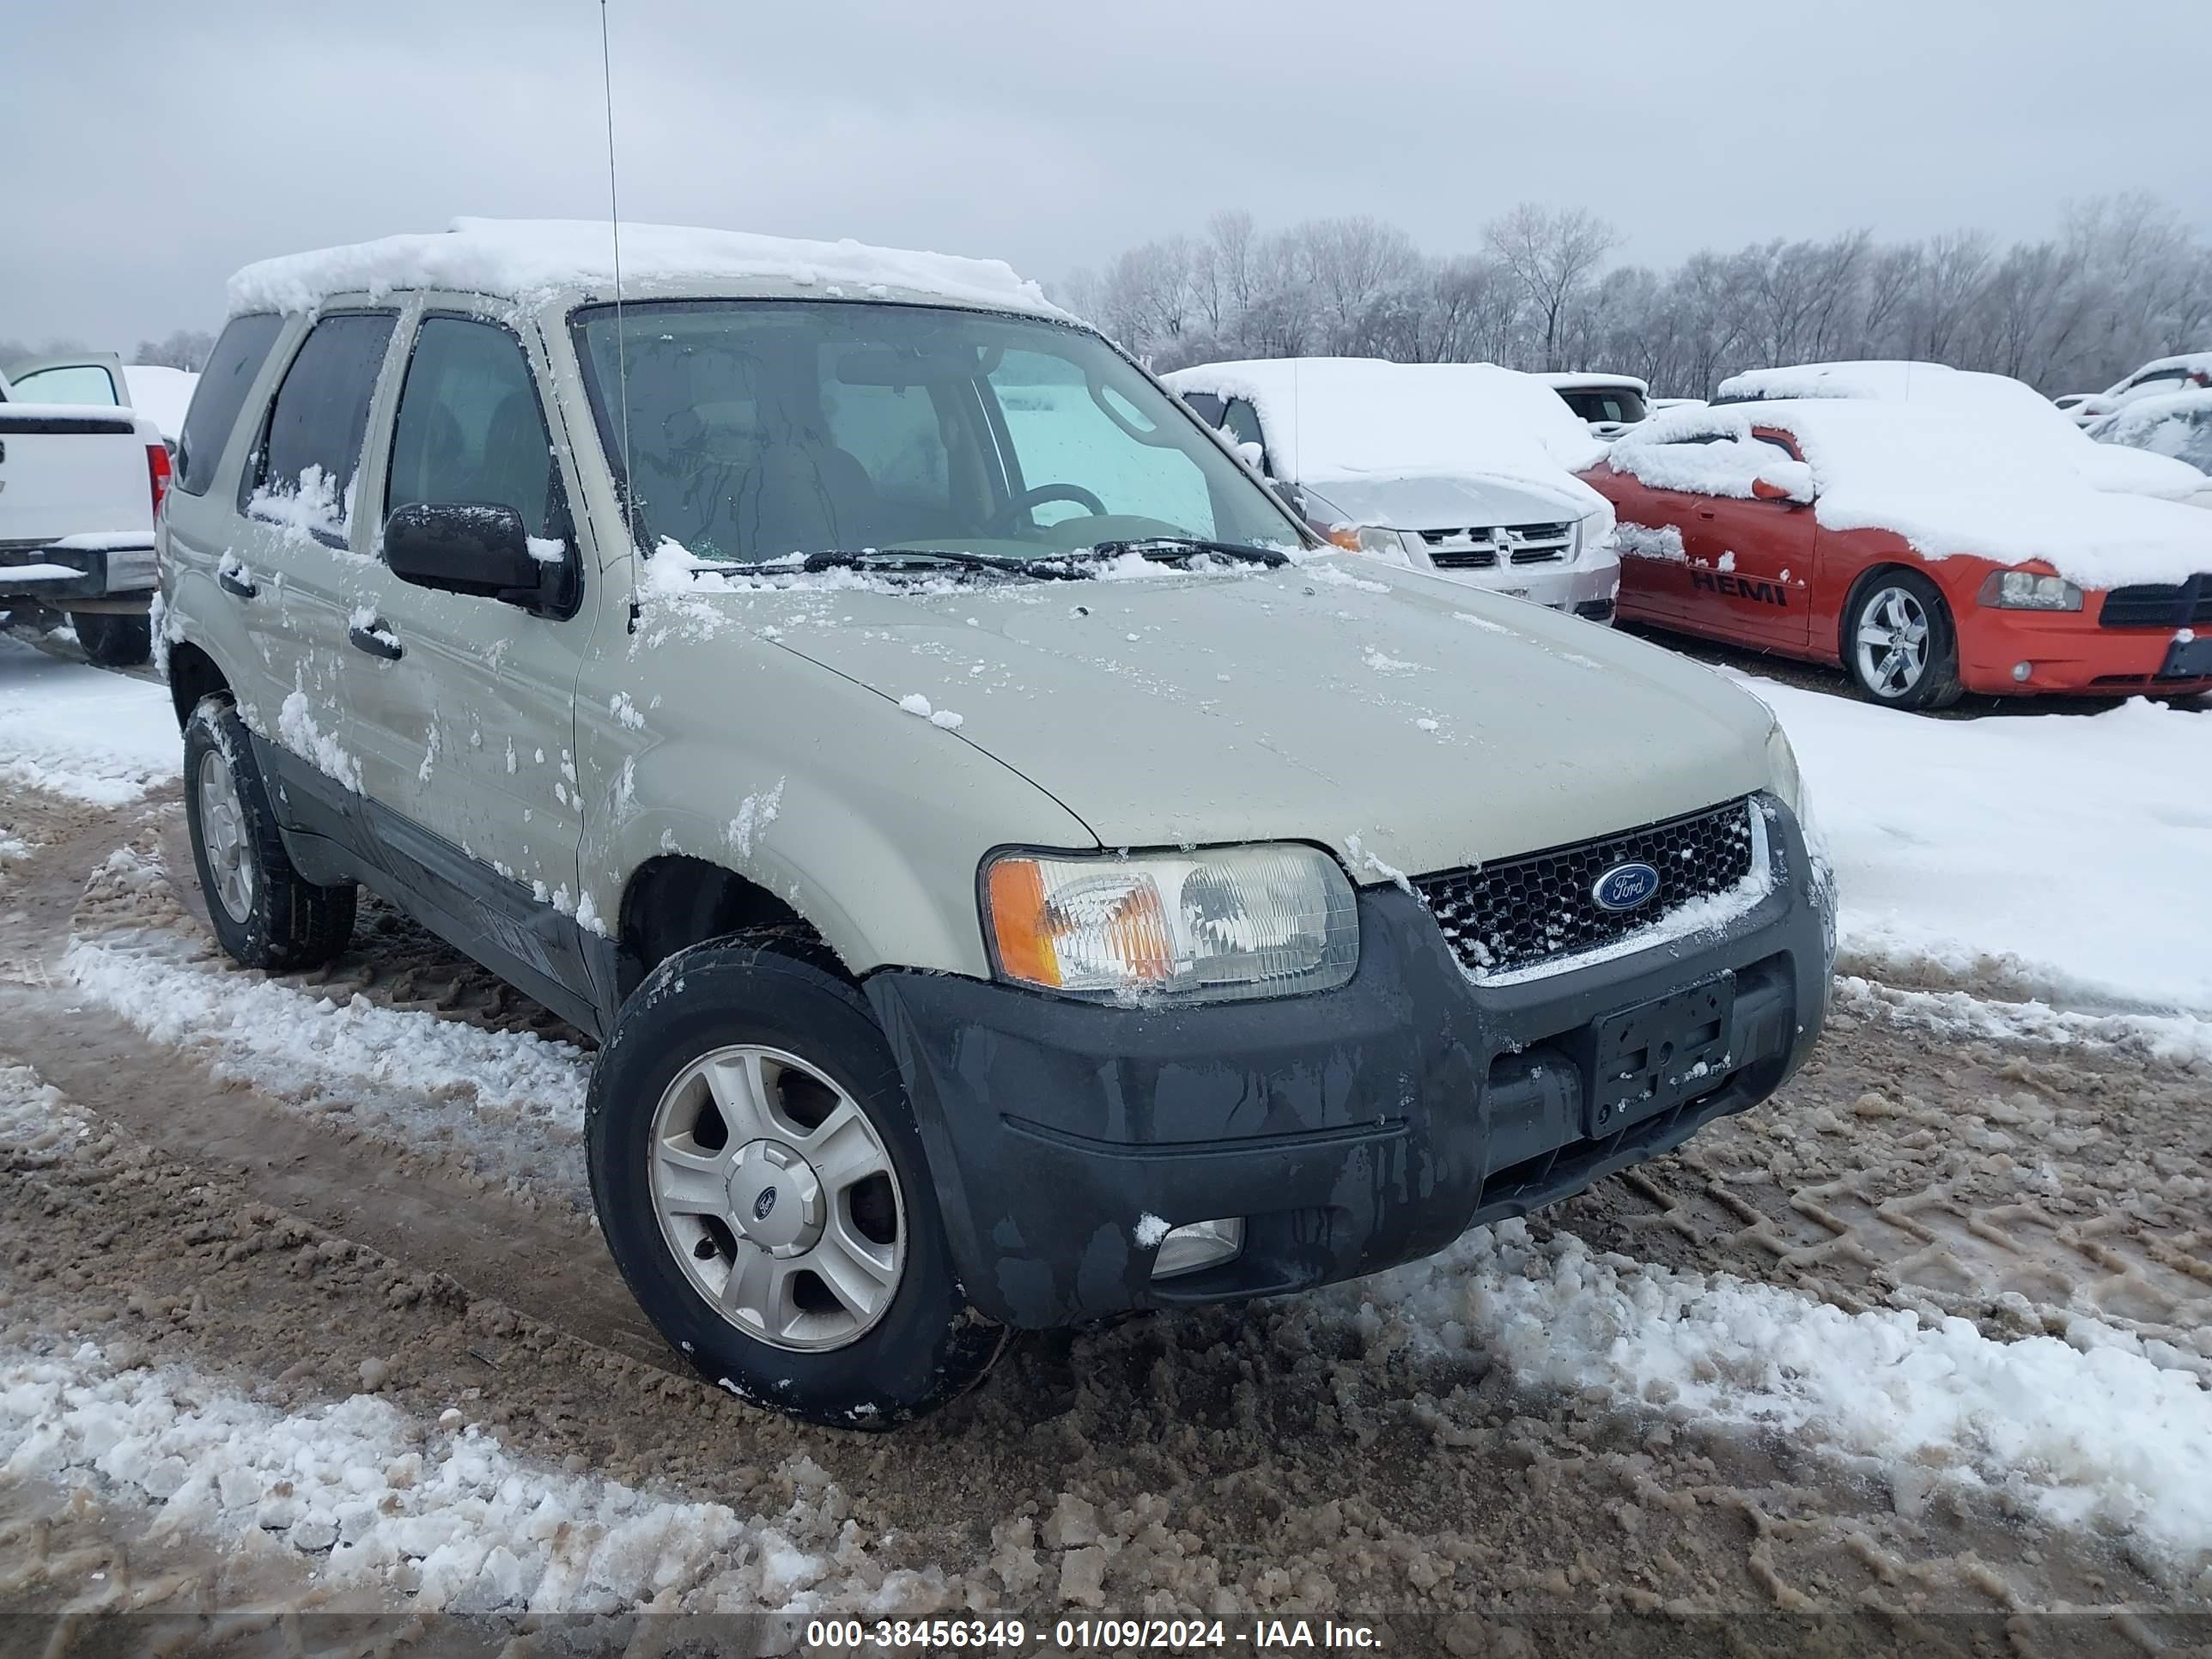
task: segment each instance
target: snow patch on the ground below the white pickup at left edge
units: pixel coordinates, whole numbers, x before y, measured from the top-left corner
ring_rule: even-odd
[[[161,686],[0,637],[0,785],[119,807],[175,779],[181,763]]]

